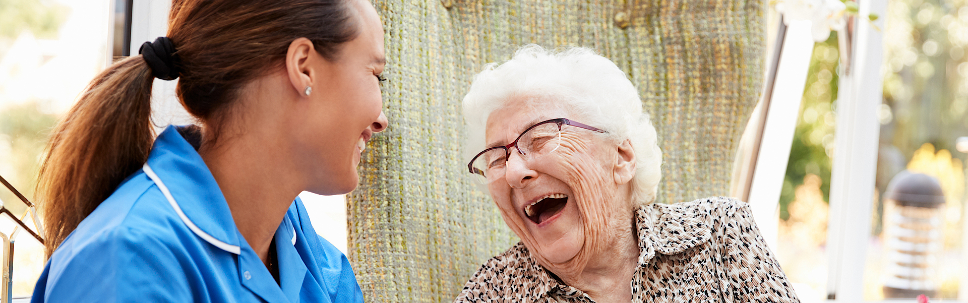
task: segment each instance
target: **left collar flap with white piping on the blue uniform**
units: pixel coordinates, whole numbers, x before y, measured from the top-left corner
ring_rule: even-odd
[[[241,239],[226,197],[193,146],[197,144],[186,140],[199,138],[193,129],[168,126],[155,139],[143,169],[186,226],[212,245],[239,255]]]

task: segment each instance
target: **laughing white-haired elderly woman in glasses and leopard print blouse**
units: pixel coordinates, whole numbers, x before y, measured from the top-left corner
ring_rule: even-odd
[[[662,154],[624,73],[537,45],[474,77],[468,165],[521,243],[457,302],[797,302],[749,206],[652,203]]]

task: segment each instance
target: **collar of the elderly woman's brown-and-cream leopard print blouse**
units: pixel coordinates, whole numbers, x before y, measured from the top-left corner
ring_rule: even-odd
[[[639,237],[639,266],[646,266],[655,253],[676,255],[709,241],[712,233],[705,212],[679,204],[652,203],[635,211],[635,224]],[[578,288],[567,286],[554,274],[537,263],[523,243],[511,249],[522,250],[526,276],[534,280],[534,291],[526,302],[540,302],[542,296],[555,291],[556,295],[577,297],[584,295]]]

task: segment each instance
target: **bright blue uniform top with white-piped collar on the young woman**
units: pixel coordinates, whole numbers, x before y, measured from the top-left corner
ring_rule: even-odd
[[[298,197],[276,229],[277,284],[184,130],[168,127],[147,164],[64,240],[31,302],[363,301],[348,259]]]

